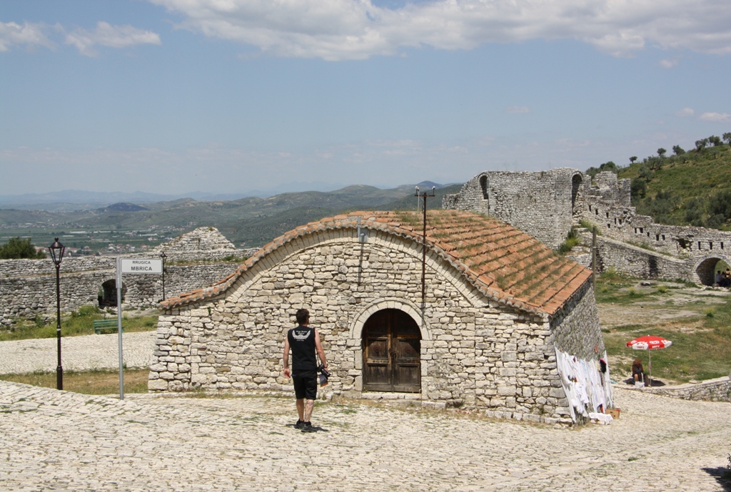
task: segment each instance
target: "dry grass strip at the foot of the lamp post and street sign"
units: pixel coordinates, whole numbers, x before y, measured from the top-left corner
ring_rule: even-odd
[[[147,393],[149,369],[124,369],[124,393]],[[0,380],[56,388],[56,372],[0,374]],[[64,390],[86,395],[119,393],[119,371],[64,371]]]

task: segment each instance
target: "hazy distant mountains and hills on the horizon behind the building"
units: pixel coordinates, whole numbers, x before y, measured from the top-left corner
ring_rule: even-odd
[[[414,186],[420,191],[437,188],[428,208],[442,207],[445,193],[456,193],[461,185],[443,186],[424,181],[418,185],[402,185],[382,190],[374,186],[352,185],[335,191],[303,191],[280,193],[260,198],[248,196],[235,200],[195,200],[189,197],[164,201],[152,201],[159,196],[150,193],[89,193],[63,191],[40,196],[50,199],[122,199],[113,203],[90,206],[66,204],[69,208],[50,207],[49,203],[36,207],[0,207],[0,228],[10,236],[34,234],[34,240],[45,244],[58,231],[159,231],[161,236],[180,234],[200,226],[219,228],[221,233],[237,245],[260,246],[302,224],[329,215],[355,210],[415,210],[417,199]],[[84,195],[83,193],[88,193]],[[16,197],[17,198],[17,197]],[[139,201],[132,201],[134,199]],[[142,203],[142,204],[140,204]],[[168,231],[163,233],[162,231]],[[175,231],[173,233],[172,231]],[[65,233],[61,233],[63,235]],[[110,233],[111,234],[111,233]],[[98,237],[98,234],[96,234]],[[118,242],[118,241],[117,241]],[[79,245],[84,239],[77,238]]]

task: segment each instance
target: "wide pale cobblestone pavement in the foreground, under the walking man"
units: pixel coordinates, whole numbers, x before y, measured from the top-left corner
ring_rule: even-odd
[[[731,404],[616,388],[609,426],[553,428],[364,401],[125,401],[0,381],[9,491],[723,491]],[[731,490],[731,484],[725,490]]]

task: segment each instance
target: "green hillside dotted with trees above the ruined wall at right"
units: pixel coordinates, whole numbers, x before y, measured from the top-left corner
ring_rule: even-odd
[[[731,147],[719,142],[689,152],[676,146],[676,152],[617,170],[632,180],[637,213],[657,223],[731,231]]]

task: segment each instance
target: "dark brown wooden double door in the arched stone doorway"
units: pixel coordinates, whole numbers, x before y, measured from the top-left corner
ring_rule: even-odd
[[[421,391],[421,331],[405,312],[381,310],[363,326],[363,389]]]

